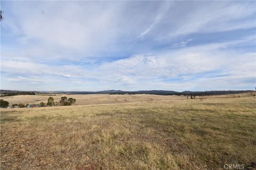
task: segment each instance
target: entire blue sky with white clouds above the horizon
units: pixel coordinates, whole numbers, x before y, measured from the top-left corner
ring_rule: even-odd
[[[1,1],[1,89],[253,90],[255,1]]]

